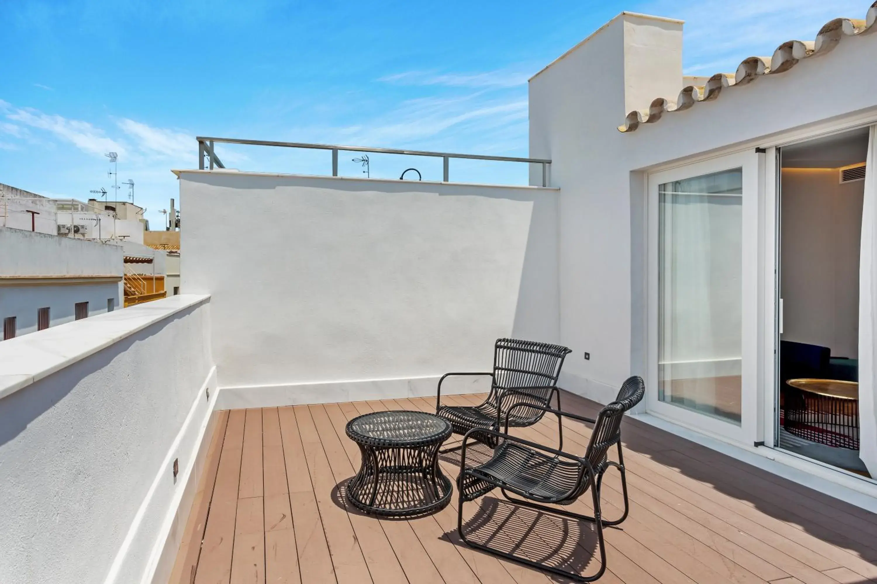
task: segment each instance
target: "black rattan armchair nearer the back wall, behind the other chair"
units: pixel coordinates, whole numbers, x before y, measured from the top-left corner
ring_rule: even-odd
[[[503,412],[508,412],[512,405],[521,405],[508,422],[515,427],[531,426],[542,419],[545,412],[541,408],[525,405],[551,405],[554,394],[560,409],[557,379],[563,360],[570,352],[566,347],[545,342],[497,339],[492,372],[446,373],[441,376],[436,414],[451,423],[454,433],[465,434],[473,428],[499,430]],[[441,384],[451,376],[491,376],[493,379],[487,399],[479,405],[441,405]],[[474,440],[484,441],[489,447],[496,446],[492,435],[485,434]],[[448,448],[443,452],[458,448]]]

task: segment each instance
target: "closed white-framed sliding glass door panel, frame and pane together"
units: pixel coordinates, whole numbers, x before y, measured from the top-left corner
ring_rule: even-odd
[[[757,174],[745,153],[649,177],[647,407],[740,440],[758,358],[746,338],[757,313]]]

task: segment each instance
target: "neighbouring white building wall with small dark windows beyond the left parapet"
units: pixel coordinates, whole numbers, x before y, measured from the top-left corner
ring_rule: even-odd
[[[49,308],[49,325],[75,319],[75,304],[89,303],[89,316],[121,306],[118,280],[87,284],[46,276],[122,276],[122,247],[19,229],[0,228],[0,319],[16,317],[17,335],[37,331],[39,308]],[[4,277],[20,278],[4,278]],[[30,285],[22,285],[21,278]],[[66,281],[65,281],[66,280]]]

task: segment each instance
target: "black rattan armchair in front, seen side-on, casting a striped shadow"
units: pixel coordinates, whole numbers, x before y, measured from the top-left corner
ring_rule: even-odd
[[[617,525],[624,521],[628,514],[627,482],[624,476],[624,459],[621,454],[621,420],[624,412],[629,411],[645,395],[645,384],[641,377],[630,377],[618,392],[617,401],[603,407],[597,419],[589,419],[569,412],[560,412],[543,405],[521,405],[522,408],[539,408],[551,412],[558,417],[558,426],[562,426],[562,418],[577,419],[581,422],[594,424],[594,430],[588,441],[588,449],[584,456],[563,452],[563,438],[560,434],[560,447],[545,447],[530,440],[522,440],[509,435],[509,426],[505,433],[493,429],[475,428],[463,438],[463,451],[460,454],[460,475],[457,477],[457,488],[460,491],[460,504],[457,512],[457,530],[460,538],[467,545],[495,553],[506,559],[512,559],[527,566],[536,567],[548,572],[557,573],[575,581],[592,582],[602,576],[606,570],[606,547],[603,541],[602,528]],[[509,419],[514,416],[517,405],[510,408]],[[489,461],[473,468],[466,468],[466,450],[469,440],[479,440],[476,435],[486,433],[497,441],[493,456]],[[617,445],[618,461],[610,461],[609,449]],[[610,467],[618,468],[622,477],[624,491],[624,514],[616,520],[602,518],[600,510],[600,489],[602,477]],[[487,495],[491,490],[499,488],[512,503],[524,505],[543,511],[595,524],[597,545],[600,552],[600,569],[591,576],[582,576],[554,566],[538,564],[531,559],[522,558],[503,552],[496,548],[474,542],[463,532],[463,503],[474,501]],[[594,516],[581,515],[572,511],[549,507],[552,505],[569,505],[580,496],[591,491]],[[511,496],[510,493],[516,495]]]

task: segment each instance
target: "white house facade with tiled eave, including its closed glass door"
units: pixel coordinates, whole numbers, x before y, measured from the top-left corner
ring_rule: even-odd
[[[531,79],[530,154],[551,158],[551,184],[560,187],[559,341],[577,354],[564,367],[567,389],[605,403],[625,376],[639,374],[648,387],[642,409],[656,419],[782,455],[774,450],[783,381],[780,154],[849,133],[865,137],[855,162],[873,161],[875,18],[877,5],[866,20],[831,21],[815,42],[744,60],[736,75],[691,80],[682,74],[681,21],[623,13]],[[877,475],[872,169],[859,183],[861,298],[852,303],[860,457]],[[710,204],[690,199],[704,193],[715,195]],[[853,261],[857,279],[845,287],[858,292]],[[733,377],[736,386],[713,383],[700,403],[671,396],[674,383],[705,376]]]

